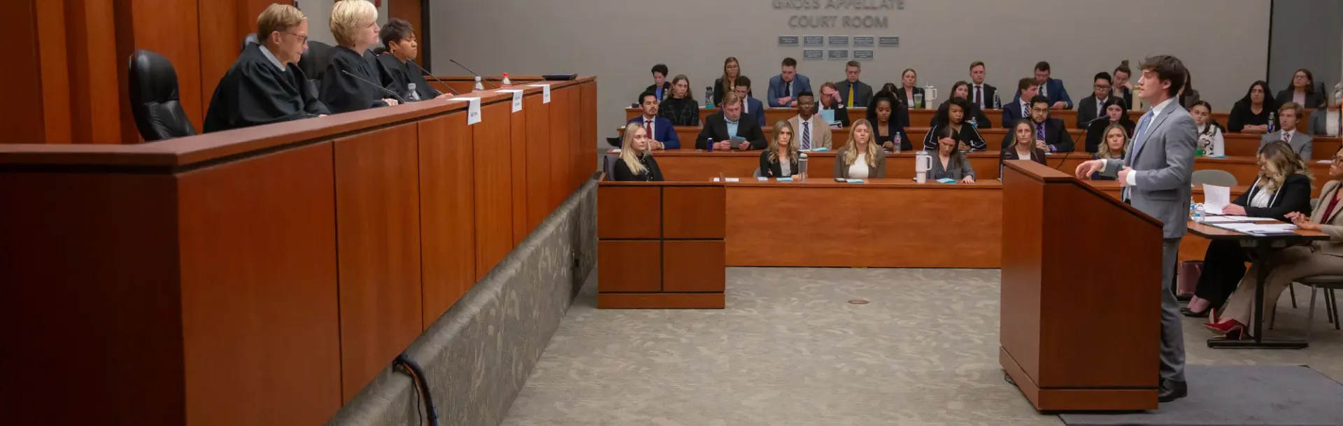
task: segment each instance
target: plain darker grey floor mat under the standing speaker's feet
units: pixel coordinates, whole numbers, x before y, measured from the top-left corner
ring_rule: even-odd
[[[1069,426],[1338,426],[1343,384],[1304,366],[1190,366],[1187,398],[1131,414],[1061,414]]]

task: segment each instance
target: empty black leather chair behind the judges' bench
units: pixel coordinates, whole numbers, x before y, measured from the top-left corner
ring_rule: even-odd
[[[130,55],[130,113],[146,142],[196,134],[177,99],[177,71],[148,50]]]

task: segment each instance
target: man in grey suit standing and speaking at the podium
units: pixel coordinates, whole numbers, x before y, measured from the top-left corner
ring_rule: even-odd
[[[1194,117],[1175,99],[1185,86],[1186,69],[1175,56],[1147,58],[1142,66],[1142,99],[1152,106],[1138,122],[1133,141],[1123,160],[1091,160],[1077,167],[1077,179],[1100,172],[1117,177],[1123,198],[1133,208],[1164,223],[1162,228],[1162,343],[1158,400],[1171,402],[1189,394],[1185,383],[1185,332],[1179,304],[1168,284],[1189,220],[1190,180],[1198,130]]]

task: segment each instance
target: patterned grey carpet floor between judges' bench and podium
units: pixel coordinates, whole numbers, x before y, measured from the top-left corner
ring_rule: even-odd
[[[998,270],[729,267],[727,278],[723,310],[599,310],[587,285],[502,425],[1062,425],[1002,379]],[[1283,297],[1279,331],[1303,331],[1305,300],[1292,309]],[[1189,361],[1308,364],[1343,379],[1343,337],[1315,321],[1309,349],[1214,351],[1189,318]]]

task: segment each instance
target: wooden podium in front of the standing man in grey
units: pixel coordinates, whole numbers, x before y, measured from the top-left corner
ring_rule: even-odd
[[[1037,410],[1154,410],[1162,223],[1068,172],[1003,168],[999,364]]]

